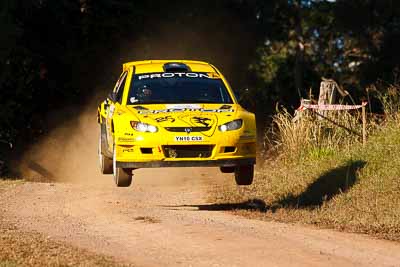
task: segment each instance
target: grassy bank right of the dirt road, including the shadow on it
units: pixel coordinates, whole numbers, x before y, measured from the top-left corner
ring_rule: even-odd
[[[317,135],[301,138],[298,128],[289,129],[277,139],[274,158],[257,171],[253,185],[215,188],[212,200],[251,218],[400,241],[398,114],[387,116],[383,125],[371,130],[366,147],[346,138],[344,132],[337,137],[342,142],[331,142],[329,135],[325,140],[311,140]],[[288,127],[302,127],[283,121]],[[304,131],[318,132],[309,127],[320,126],[308,125]]]

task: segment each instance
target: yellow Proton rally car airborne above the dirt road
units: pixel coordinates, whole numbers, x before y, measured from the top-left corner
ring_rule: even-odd
[[[220,167],[238,185],[253,181],[254,114],[243,109],[211,64],[129,62],[98,107],[103,174],[129,186],[137,168]]]

